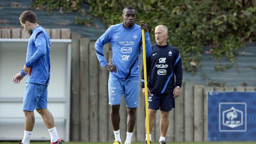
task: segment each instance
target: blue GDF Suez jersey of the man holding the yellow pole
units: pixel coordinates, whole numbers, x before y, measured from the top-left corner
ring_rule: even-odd
[[[132,28],[125,28],[123,23],[110,26],[95,43],[96,55],[101,66],[108,65],[104,57],[103,46],[110,42],[112,47],[112,62],[117,72],[110,75],[122,80],[134,80],[140,78],[140,59],[142,51],[142,32],[140,26],[134,23]],[[148,32],[145,32],[146,56],[152,52]]]

